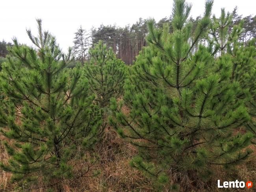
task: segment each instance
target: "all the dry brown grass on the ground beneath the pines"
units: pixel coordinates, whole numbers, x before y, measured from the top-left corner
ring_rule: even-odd
[[[3,136],[0,136],[0,140],[4,140]],[[256,147],[251,146],[256,152]],[[125,143],[117,134],[108,127],[104,136],[104,140],[100,142],[95,150],[100,155],[99,161],[94,165],[93,169],[98,169],[101,173],[96,177],[80,177],[75,180],[64,180],[58,183],[58,188],[62,188],[63,192],[154,192],[153,183],[150,179],[145,177],[138,170],[134,170],[130,167],[129,162],[132,156],[137,151],[131,144]],[[0,145],[0,161],[7,162],[9,156],[4,150],[4,146]],[[82,166],[86,166],[82,162],[75,168],[75,172],[79,174]],[[176,175],[172,175],[172,179],[175,180]],[[191,176],[191,175],[190,175]],[[11,192],[15,190],[15,185],[11,184],[11,174],[4,172],[0,169],[0,192]],[[192,181],[191,177],[184,175],[183,181],[181,181],[181,192],[216,192],[225,191],[217,188],[217,179],[221,181],[256,181],[256,157],[251,155],[247,161],[236,169],[230,169],[223,172],[219,167],[216,167],[215,175],[207,183],[203,183],[200,180],[195,179]],[[195,177],[196,178],[196,177]],[[57,189],[57,186],[54,186]],[[31,190],[24,190],[31,191]],[[43,183],[39,182],[39,188],[33,190],[33,192],[46,191]],[[165,190],[168,192],[170,190]],[[252,191],[251,189],[243,190],[226,190],[226,191]]]

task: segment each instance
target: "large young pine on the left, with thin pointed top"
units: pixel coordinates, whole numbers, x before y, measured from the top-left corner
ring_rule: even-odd
[[[37,50],[14,39],[9,50],[14,59],[9,57],[0,73],[6,95],[0,104],[0,126],[9,138],[4,145],[11,157],[0,166],[13,173],[14,182],[22,181],[22,187],[36,185],[38,179],[47,185],[51,179],[72,177],[70,161],[78,158],[89,168],[95,157],[85,154],[101,126],[101,111],[82,70],[65,68],[71,50],[62,54],[55,38],[42,30],[41,20],[37,22],[38,37],[27,31]],[[80,176],[87,171],[81,170]]]

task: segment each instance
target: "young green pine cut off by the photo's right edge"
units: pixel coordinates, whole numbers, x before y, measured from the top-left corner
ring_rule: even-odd
[[[236,27],[235,27],[236,28]],[[246,122],[246,131],[254,134],[253,144],[256,144],[256,39],[244,44],[238,41],[228,43],[227,54],[232,57],[232,76],[230,80],[237,84],[237,102],[243,100],[251,116]]]

